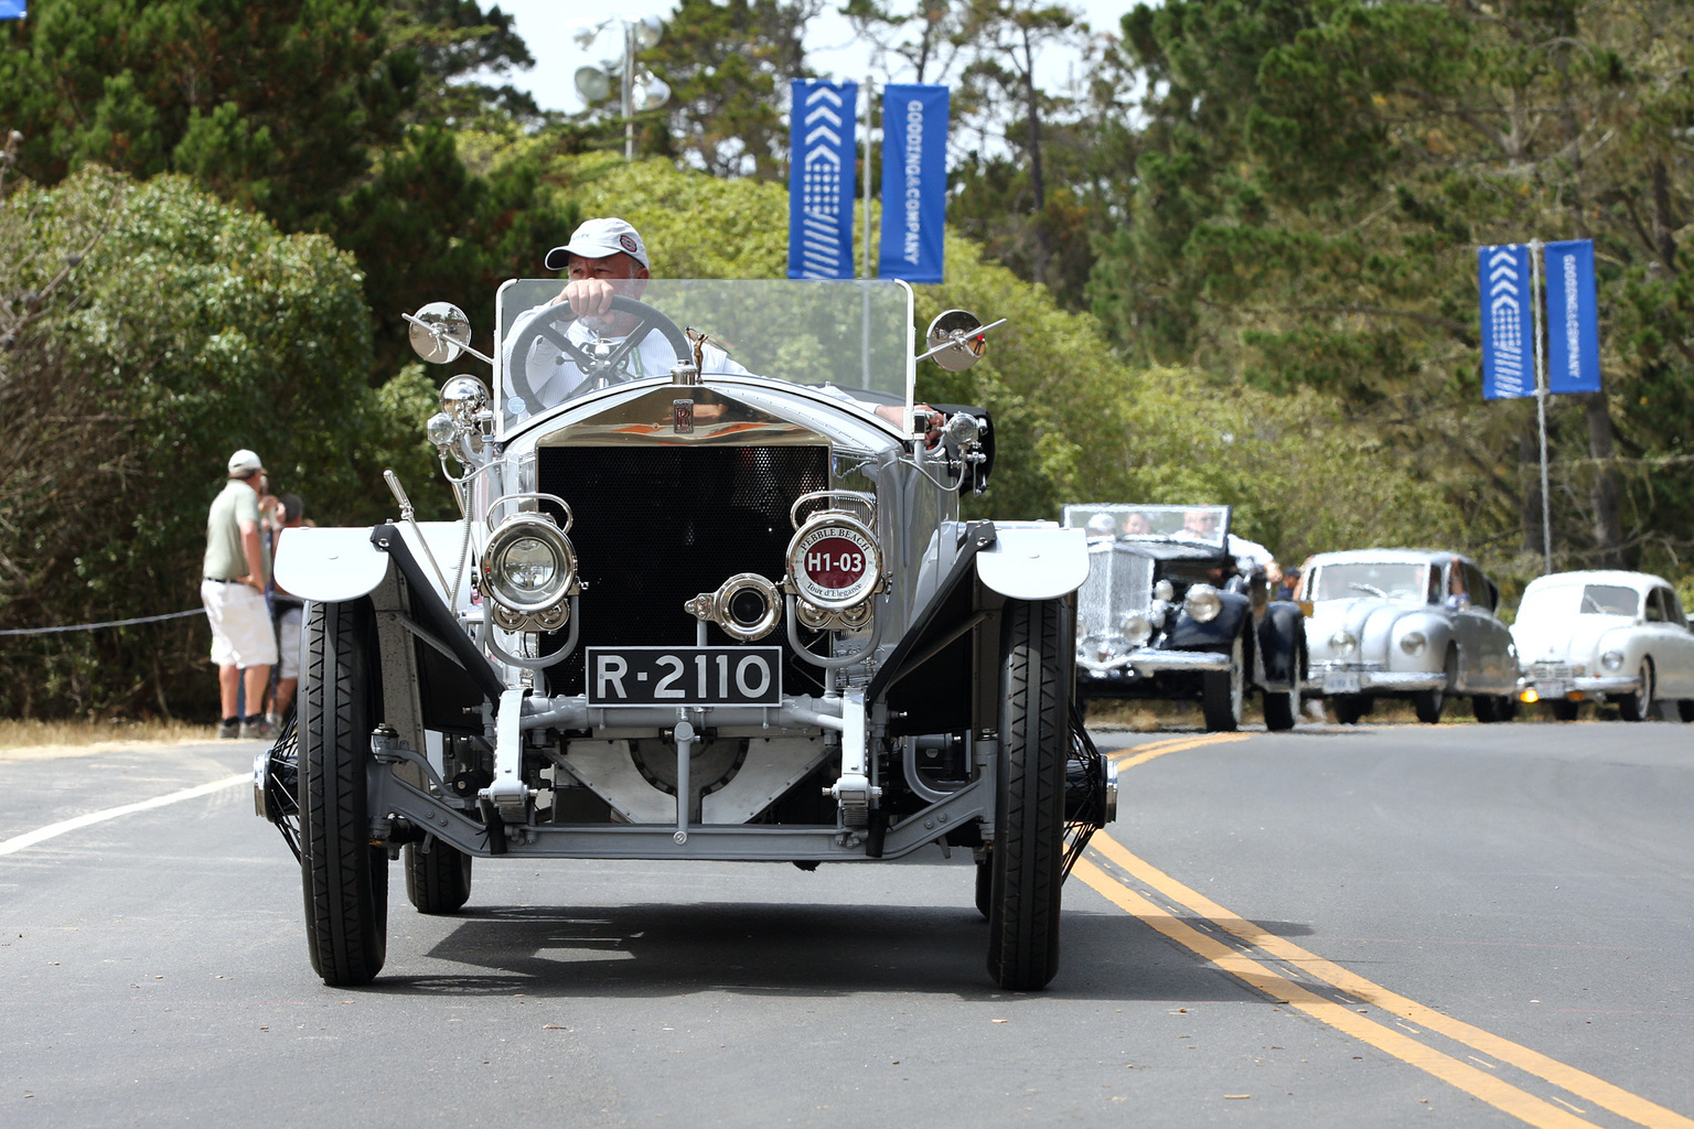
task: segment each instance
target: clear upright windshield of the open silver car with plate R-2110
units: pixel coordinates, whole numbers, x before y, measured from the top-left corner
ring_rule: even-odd
[[[693,350],[689,333],[705,335],[708,379],[750,374],[911,405],[911,288],[896,279],[615,279],[620,298],[642,305],[581,318],[556,305],[564,284],[500,288],[495,399],[508,427],[601,388],[669,377],[678,352]]]

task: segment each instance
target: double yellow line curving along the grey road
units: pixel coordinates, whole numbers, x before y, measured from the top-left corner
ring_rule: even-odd
[[[1204,745],[1243,741],[1248,736],[1247,733],[1213,733],[1169,738],[1123,750],[1113,760],[1120,768],[1130,768],[1165,753],[1201,748]],[[1116,873],[1108,872],[1096,858],[1110,865]],[[1459,1061],[1452,1055],[1438,1051],[1413,1036],[1433,1031],[1648,1129],[1694,1129],[1694,1121],[1675,1110],[1630,1093],[1575,1066],[1567,1066],[1547,1055],[1531,1051],[1526,1046],[1443,1016],[1431,1007],[1425,1007],[1416,1000],[1409,1000],[1379,983],[1347,972],[1340,965],[1323,960],[1286,938],[1267,933],[1254,922],[1232,914],[1204,894],[1182,885],[1108,836],[1096,836],[1093,840],[1091,858],[1077,860],[1072,873],[1098,890],[1106,900],[1135,914],[1182,948],[1211,961],[1279,1004],[1303,1011],[1337,1031],[1369,1043],[1404,1063],[1411,1063],[1526,1124],[1545,1126],[1548,1129],[1577,1129],[1582,1126],[1594,1129],[1594,1122],[1581,1117],[1587,1110],[1579,1105],[1565,1102],[1557,1095],[1552,1100],[1540,1099],[1497,1075],[1487,1073],[1487,1070]],[[1137,890],[1137,885],[1142,890]],[[1187,911],[1182,916],[1189,921],[1201,919],[1204,926],[1215,928],[1218,934],[1235,938],[1247,948],[1230,945],[1218,936],[1208,936],[1187,924],[1187,921],[1182,921],[1177,916],[1181,911],[1174,909],[1174,906],[1159,906],[1154,902],[1154,895],[1159,895],[1167,904],[1182,906]],[[1338,1000],[1323,995],[1325,987],[1348,999]],[[1398,1021],[1396,1026],[1403,1029],[1396,1031],[1387,1024],[1370,1019],[1367,1009],[1360,1007],[1360,1004],[1376,1007],[1394,1017]],[[1420,1024],[1423,1031],[1408,1024]],[[1487,1066],[1487,1063],[1484,1065]]]

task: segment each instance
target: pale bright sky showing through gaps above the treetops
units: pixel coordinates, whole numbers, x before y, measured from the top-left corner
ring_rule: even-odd
[[[488,3],[488,0],[484,0]],[[535,66],[515,71],[503,81],[527,90],[544,110],[576,112],[583,100],[576,95],[573,78],[579,66],[598,66],[608,58],[622,56],[622,29],[615,20],[601,32],[591,49],[576,46],[573,34],[606,19],[605,0],[498,0],[500,10],[515,17],[518,36],[535,56]],[[1133,0],[1071,0],[1096,30],[1118,30],[1118,20],[1130,10]],[[491,5],[488,5],[491,7]],[[617,5],[620,19],[639,20],[647,15],[664,19],[676,10],[674,0],[622,0]],[[871,64],[869,46],[859,41],[845,19],[828,3],[806,34],[806,61],[815,71],[835,80],[864,81]],[[1044,59],[1047,73],[1040,74],[1045,86],[1062,86],[1074,59],[1052,52]],[[896,74],[896,78],[900,78]]]

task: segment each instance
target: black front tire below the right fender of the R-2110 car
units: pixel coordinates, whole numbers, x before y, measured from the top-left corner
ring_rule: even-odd
[[[999,797],[988,972],[1028,992],[1059,972],[1064,789],[1074,626],[1060,601],[1010,601],[1001,631]]]

